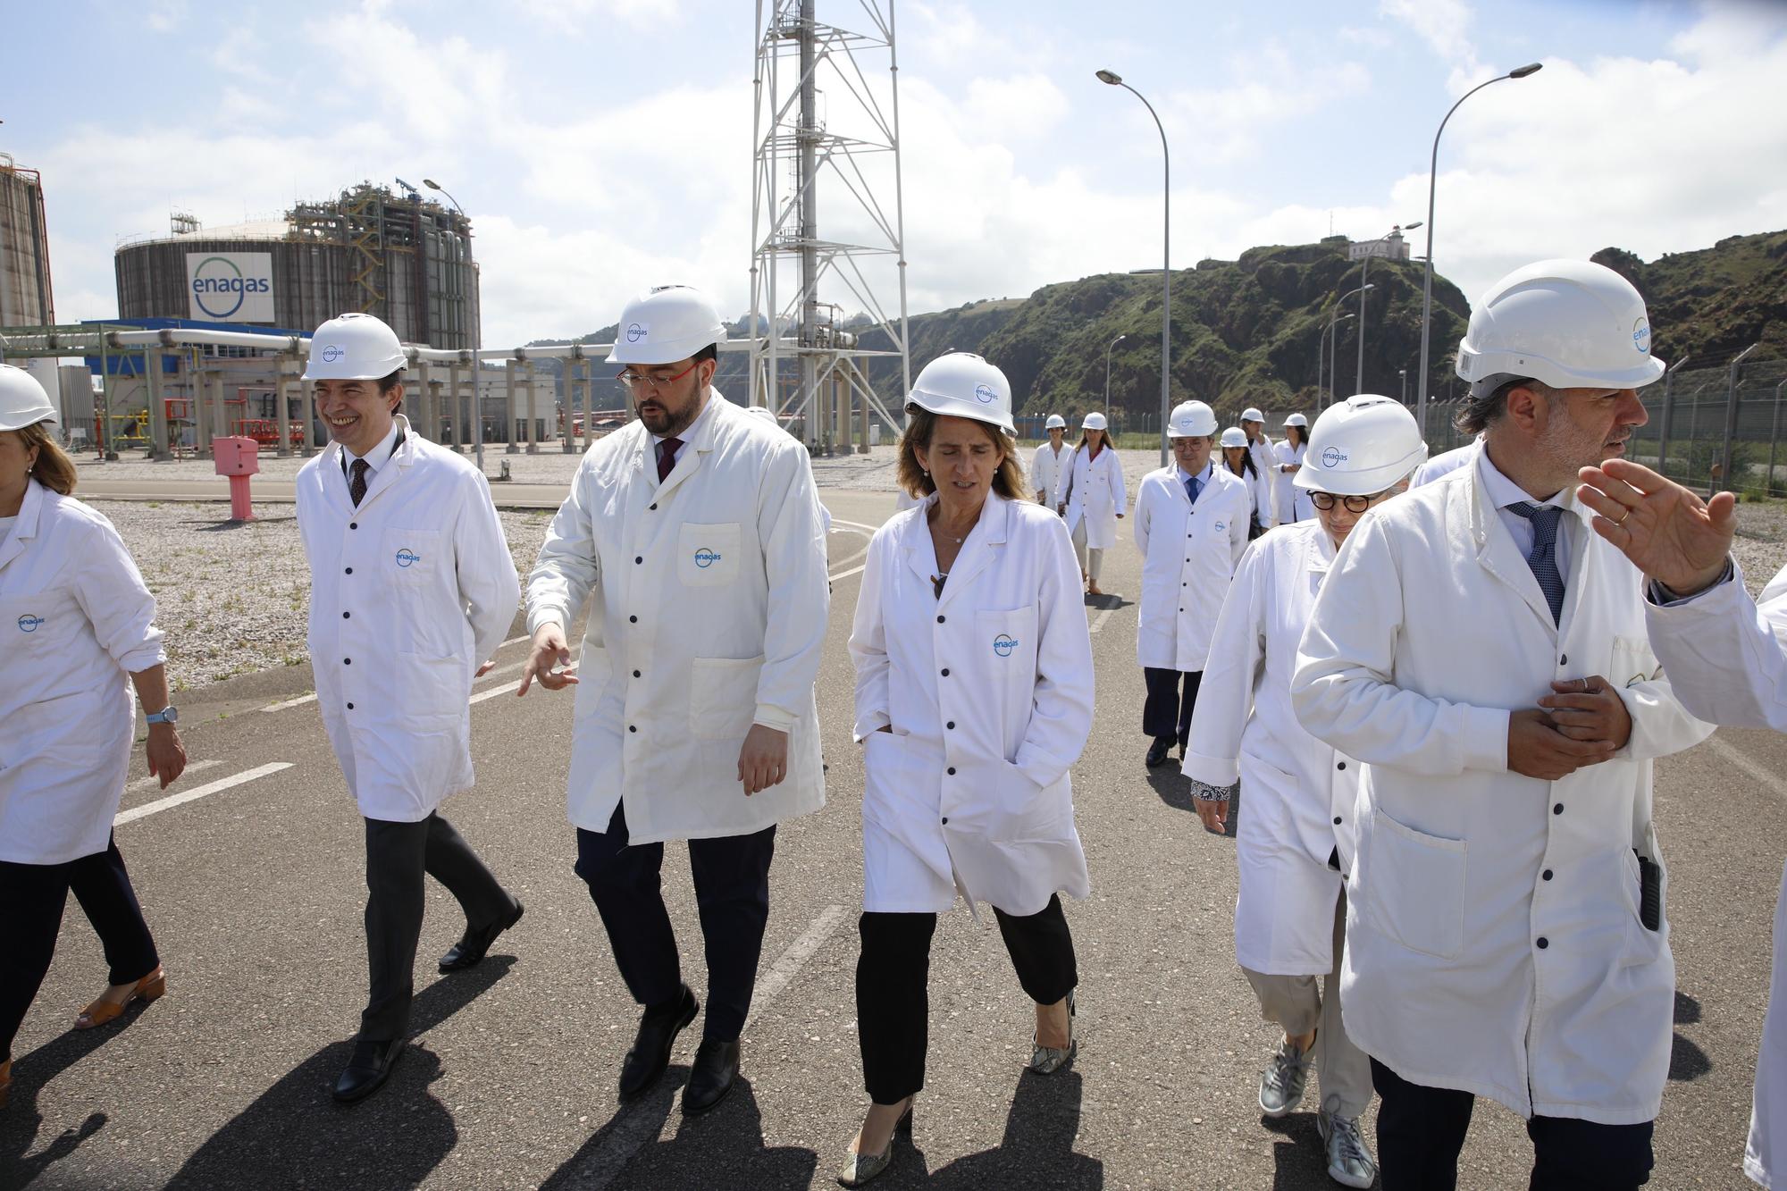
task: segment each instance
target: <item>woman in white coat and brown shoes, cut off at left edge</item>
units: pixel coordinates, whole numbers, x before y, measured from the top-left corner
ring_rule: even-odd
[[[113,842],[136,740],[132,685],[148,712],[148,773],[166,789],[186,767],[155,597],[111,522],[70,495],[75,465],[48,433],[55,420],[36,377],[0,365],[0,1107],[70,891],[111,967],[77,1030],[168,987]]]

